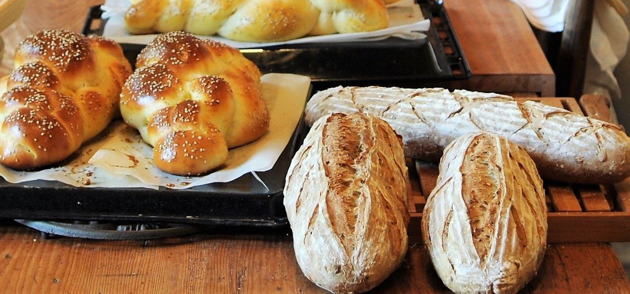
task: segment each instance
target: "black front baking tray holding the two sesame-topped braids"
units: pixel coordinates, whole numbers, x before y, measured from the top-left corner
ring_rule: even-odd
[[[55,181],[11,184],[0,178],[0,217],[28,220],[137,221],[283,227],[284,179],[304,139],[302,120],[269,171],[188,189],[76,188]]]

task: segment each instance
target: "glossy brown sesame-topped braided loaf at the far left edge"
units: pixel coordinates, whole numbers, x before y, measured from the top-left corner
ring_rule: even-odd
[[[21,170],[62,161],[100,133],[131,74],[120,45],[66,30],[27,37],[14,66],[0,80],[0,162]]]

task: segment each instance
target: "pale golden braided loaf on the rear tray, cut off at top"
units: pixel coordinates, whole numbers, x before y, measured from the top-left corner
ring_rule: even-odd
[[[132,0],[130,33],[188,31],[273,42],[386,28],[385,3],[398,0]]]

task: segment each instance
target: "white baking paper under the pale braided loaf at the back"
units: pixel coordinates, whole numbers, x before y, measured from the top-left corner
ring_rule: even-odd
[[[125,28],[125,13],[131,6],[129,0],[106,0],[101,6],[103,15],[101,18],[107,19],[103,30],[103,37],[110,38],[119,43],[147,44],[157,35],[131,35]],[[425,20],[420,10],[420,6],[413,0],[401,0],[387,6],[389,14],[389,27],[382,30],[368,31],[364,33],[337,33],[333,35],[323,35],[314,37],[304,37],[285,42],[238,42],[220,37],[218,35],[197,36],[200,38],[210,38],[235,48],[261,48],[285,44],[315,43],[315,42],[369,42],[382,40],[388,37],[399,37],[405,39],[425,38],[426,35],[420,33],[427,31],[430,20]]]

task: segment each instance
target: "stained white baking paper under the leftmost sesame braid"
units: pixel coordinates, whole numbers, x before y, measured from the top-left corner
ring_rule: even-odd
[[[98,166],[88,163],[90,157],[100,149],[101,145],[120,130],[127,128],[127,125],[118,120],[113,122],[103,134],[99,135],[87,145],[79,149],[71,161],[64,166],[50,167],[40,171],[14,171],[0,164],[0,176],[9,183],[23,183],[43,179],[46,181],[59,181],[76,187],[130,187],[130,188],[152,188],[157,186],[145,184],[132,176],[123,174],[112,174]]]

